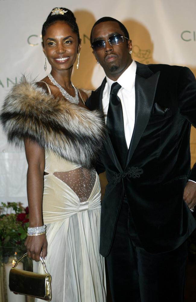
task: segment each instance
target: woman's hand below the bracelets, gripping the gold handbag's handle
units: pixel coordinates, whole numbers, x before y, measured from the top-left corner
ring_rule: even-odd
[[[27,236],[24,245],[27,248],[28,257],[30,257],[32,260],[40,261],[40,256],[45,259],[48,246],[46,234]]]

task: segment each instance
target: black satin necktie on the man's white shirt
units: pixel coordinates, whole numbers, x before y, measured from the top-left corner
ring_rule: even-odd
[[[128,149],[125,140],[122,105],[117,96],[120,88],[121,85],[117,82],[113,83],[111,86],[106,125],[116,156],[122,169],[124,169]]]

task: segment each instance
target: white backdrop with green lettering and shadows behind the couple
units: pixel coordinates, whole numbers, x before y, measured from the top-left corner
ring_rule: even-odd
[[[142,63],[188,66],[196,75],[195,0],[0,0],[1,68],[0,107],[13,83],[21,74],[42,79],[44,55],[41,28],[53,7],[71,9],[79,26],[82,50],[79,71],[73,71],[74,85],[96,88],[104,73],[91,54],[89,37],[94,22],[116,18],[127,27],[133,41],[133,57]],[[49,72],[50,70],[48,70]],[[8,146],[0,131],[0,202],[27,204],[24,152]]]

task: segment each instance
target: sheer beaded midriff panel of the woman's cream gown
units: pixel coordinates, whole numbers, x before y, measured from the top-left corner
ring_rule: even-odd
[[[53,175],[65,182],[75,192],[80,202],[89,199],[96,181],[95,169],[87,170],[83,167],[68,172],[54,172]]]

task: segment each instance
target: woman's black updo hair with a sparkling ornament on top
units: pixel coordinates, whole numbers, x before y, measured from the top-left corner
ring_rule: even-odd
[[[48,18],[42,27],[42,37],[45,36],[47,28],[57,21],[64,21],[67,23],[71,27],[72,31],[77,34],[78,44],[80,44],[80,34],[76,23],[76,18],[70,9],[64,7],[53,8],[49,13]]]

